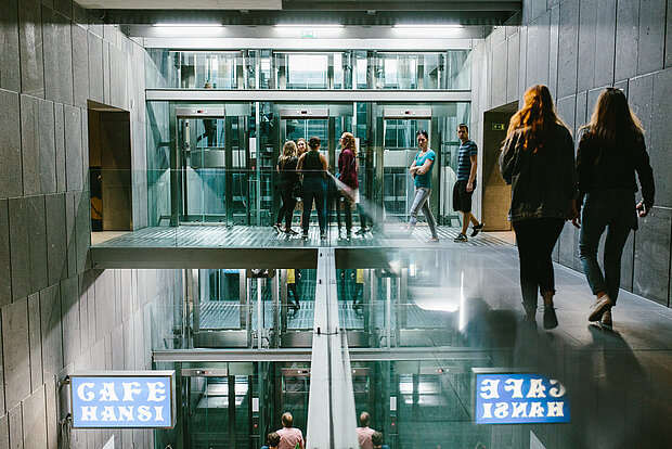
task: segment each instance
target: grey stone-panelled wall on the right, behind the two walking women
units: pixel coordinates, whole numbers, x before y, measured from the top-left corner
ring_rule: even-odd
[[[625,245],[621,286],[670,307],[672,34],[665,29],[672,27],[672,11],[667,3],[525,0],[512,26],[495,28],[474,50],[471,120],[480,145],[483,113],[521,99],[541,82],[577,139],[602,89],[624,89],[647,131],[657,192],[651,214]],[[578,241],[579,232],[566,226],[556,261],[581,270]]]

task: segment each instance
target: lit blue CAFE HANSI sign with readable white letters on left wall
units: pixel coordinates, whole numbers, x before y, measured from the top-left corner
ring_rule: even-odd
[[[175,371],[105,371],[70,375],[73,427],[170,428]]]

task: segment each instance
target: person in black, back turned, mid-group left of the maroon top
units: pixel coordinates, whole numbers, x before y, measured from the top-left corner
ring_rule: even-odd
[[[300,158],[298,170],[303,177],[303,238],[308,238],[310,210],[313,202],[318,209],[320,238],[326,239],[326,157],[320,153],[320,138],[312,137],[308,141],[310,150]]]

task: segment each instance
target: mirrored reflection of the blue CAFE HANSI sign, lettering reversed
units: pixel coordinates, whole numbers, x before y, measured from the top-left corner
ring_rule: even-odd
[[[568,423],[567,390],[539,374],[477,374],[476,424]]]

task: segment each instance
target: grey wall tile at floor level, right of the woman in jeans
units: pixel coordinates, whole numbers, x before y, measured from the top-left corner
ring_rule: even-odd
[[[670,297],[672,210],[654,207],[635,234],[633,292],[663,306]]]

